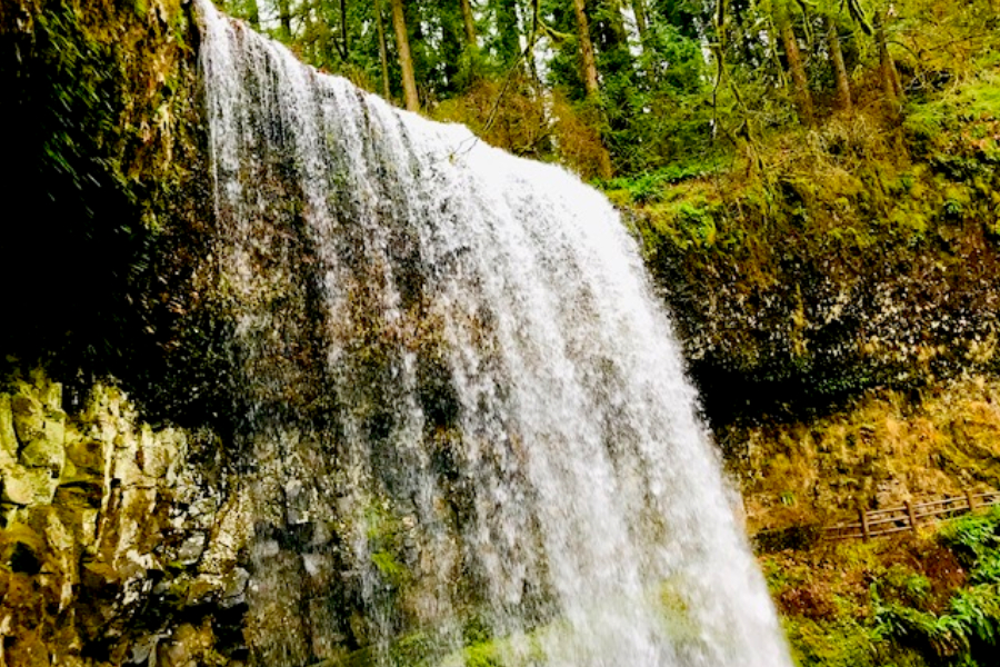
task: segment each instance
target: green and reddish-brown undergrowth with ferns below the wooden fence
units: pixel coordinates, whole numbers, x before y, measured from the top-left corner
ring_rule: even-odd
[[[937,534],[762,559],[802,667],[991,665],[1000,639],[1000,510]]]

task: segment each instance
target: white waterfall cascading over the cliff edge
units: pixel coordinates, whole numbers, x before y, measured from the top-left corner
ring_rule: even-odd
[[[199,10],[254,661],[789,665],[608,201]]]

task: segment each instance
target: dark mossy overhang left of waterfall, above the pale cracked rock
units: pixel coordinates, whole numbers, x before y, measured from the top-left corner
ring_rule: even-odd
[[[3,190],[22,212],[0,350],[71,394],[112,374],[192,422],[220,412],[207,386],[227,377],[212,277],[196,273],[212,221],[198,39],[181,0],[0,3]]]

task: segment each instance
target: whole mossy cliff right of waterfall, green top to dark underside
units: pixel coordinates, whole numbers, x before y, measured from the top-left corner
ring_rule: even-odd
[[[901,121],[858,110],[712,176],[611,183],[716,425],[994,370],[998,119],[983,63]]]

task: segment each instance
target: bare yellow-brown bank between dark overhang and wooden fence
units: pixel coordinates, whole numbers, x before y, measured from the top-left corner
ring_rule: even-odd
[[[859,508],[1000,489],[1000,381],[870,390],[842,411],[719,436],[751,534],[856,520]]]

